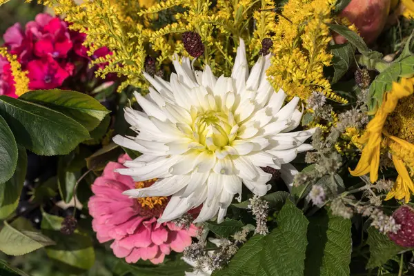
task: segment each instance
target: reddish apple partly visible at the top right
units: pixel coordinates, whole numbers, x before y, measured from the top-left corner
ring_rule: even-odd
[[[385,26],[390,12],[391,0],[351,0],[351,2],[339,14],[346,17],[358,28],[358,32],[364,41],[373,43]],[[340,35],[334,35],[336,43],[342,44],[346,39]]]

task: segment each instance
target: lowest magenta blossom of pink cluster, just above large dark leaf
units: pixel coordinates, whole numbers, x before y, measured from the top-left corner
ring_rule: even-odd
[[[34,59],[28,63],[27,67],[30,89],[57,88],[69,77],[70,72],[67,70],[73,68],[70,63],[64,64],[62,68],[52,57]]]

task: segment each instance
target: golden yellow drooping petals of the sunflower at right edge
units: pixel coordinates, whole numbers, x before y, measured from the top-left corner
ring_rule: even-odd
[[[378,169],[380,166],[381,148],[384,147],[393,157],[394,166],[398,172],[397,181],[390,193],[388,193],[386,200],[395,197],[395,199],[405,199],[406,202],[410,200],[411,193],[414,193],[414,184],[411,180],[414,174],[414,144],[411,144],[405,139],[411,137],[406,135],[406,132],[393,133],[394,128],[391,125],[398,125],[399,129],[413,128],[412,121],[409,119],[402,119],[399,121],[391,121],[387,124],[387,119],[404,118],[405,115],[411,116],[414,112],[413,105],[406,104],[408,98],[414,92],[414,79],[401,79],[400,83],[393,83],[393,88],[390,92],[384,94],[382,105],[375,113],[375,117],[368,123],[364,134],[357,139],[357,142],[363,144],[361,159],[357,164],[355,170],[351,170],[351,175],[362,176],[370,174],[372,183],[378,179]],[[398,103],[402,98],[403,103]],[[405,107],[405,108],[404,108]],[[405,124],[409,122],[408,124]],[[394,135],[402,135],[397,137]],[[407,168],[411,171],[408,173]]]

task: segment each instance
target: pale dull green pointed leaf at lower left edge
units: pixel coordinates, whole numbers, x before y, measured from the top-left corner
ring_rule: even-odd
[[[16,230],[7,221],[4,221],[4,226],[0,231],[0,250],[7,255],[24,255],[52,244],[55,242],[41,233]]]

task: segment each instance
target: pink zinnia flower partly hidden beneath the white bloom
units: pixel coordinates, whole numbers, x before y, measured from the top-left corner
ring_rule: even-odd
[[[125,161],[125,157],[118,161]],[[88,206],[99,242],[113,239],[110,247],[115,256],[125,258],[128,263],[149,259],[152,264],[159,264],[171,250],[182,252],[191,244],[197,227],[191,224],[185,229],[172,222],[158,224],[157,218],[164,211],[168,198],[132,199],[122,195],[125,190],[150,186],[154,181],[135,183],[132,177],[114,172],[118,168],[126,167],[109,162],[103,175],[92,185],[95,195],[90,197]]]

